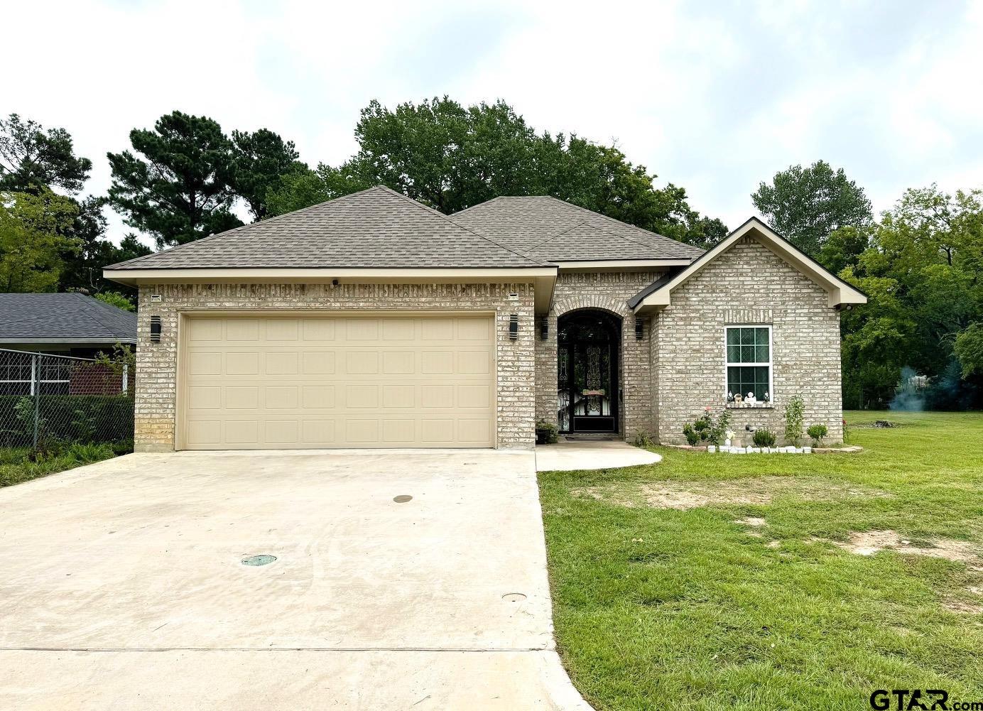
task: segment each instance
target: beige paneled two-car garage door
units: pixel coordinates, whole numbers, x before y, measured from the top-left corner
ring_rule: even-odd
[[[184,448],[494,444],[491,317],[185,326]]]

